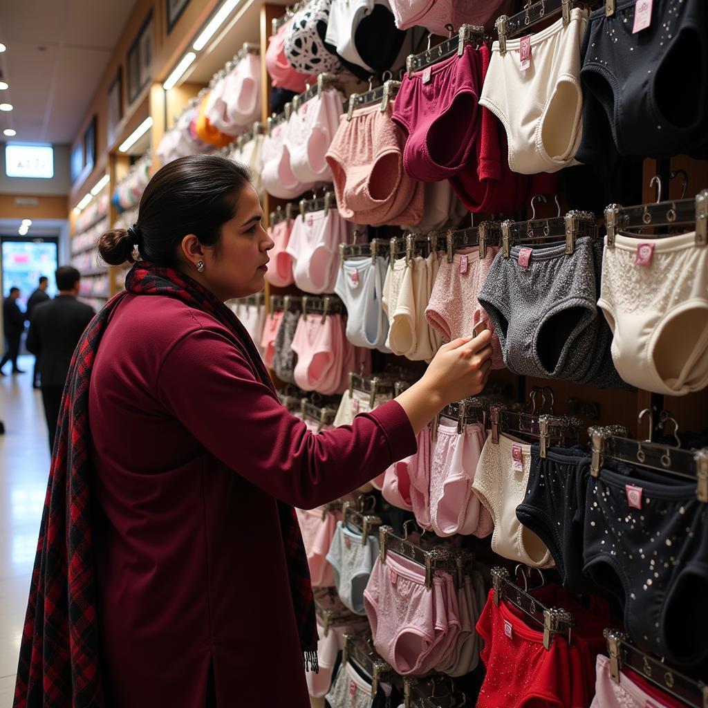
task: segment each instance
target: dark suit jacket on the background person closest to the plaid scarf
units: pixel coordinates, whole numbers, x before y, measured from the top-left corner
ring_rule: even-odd
[[[59,295],[35,307],[27,348],[38,360],[42,386],[63,386],[93,308],[71,295]]]

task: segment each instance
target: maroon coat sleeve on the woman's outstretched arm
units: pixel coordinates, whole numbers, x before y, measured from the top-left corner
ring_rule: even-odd
[[[263,491],[314,508],[353,491],[416,450],[396,401],[351,426],[313,435],[253,376],[222,333],[192,331],[170,350],[157,381],[166,409],[212,455]]]

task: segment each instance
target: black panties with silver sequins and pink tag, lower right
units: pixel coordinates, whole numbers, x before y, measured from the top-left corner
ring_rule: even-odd
[[[622,603],[637,644],[669,663],[700,663],[708,613],[695,598],[708,583],[708,505],[695,481],[610,462],[586,489],[585,573]]]

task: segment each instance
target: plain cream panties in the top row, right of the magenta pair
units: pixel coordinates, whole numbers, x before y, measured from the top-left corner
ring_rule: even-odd
[[[479,100],[506,128],[509,166],[515,172],[555,172],[578,164],[583,133],[580,85],[581,42],[587,11],[573,8],[567,25],[559,19],[531,35],[532,68],[519,68],[520,43],[507,40],[506,52],[492,45]]]

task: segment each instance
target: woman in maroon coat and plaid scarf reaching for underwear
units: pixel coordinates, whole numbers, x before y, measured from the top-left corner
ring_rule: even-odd
[[[101,237],[107,263],[135,263],[136,246],[142,260],[69,369],[16,706],[309,708],[317,632],[293,507],[370,481],[484,387],[489,331],[351,426],[310,433],[224,304],[263,290],[262,219],[244,166],[195,155]]]

